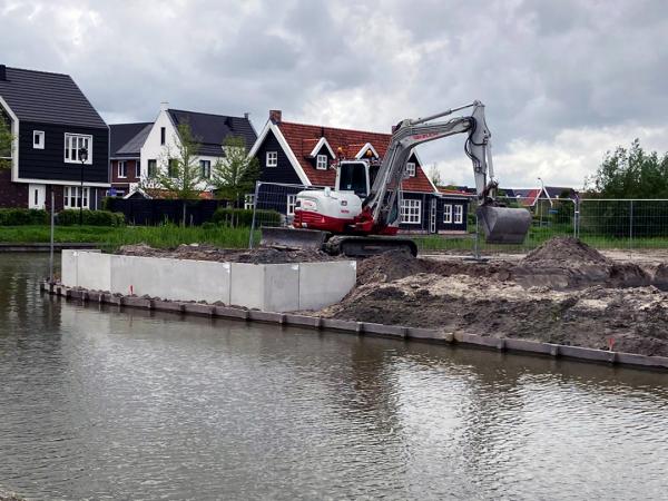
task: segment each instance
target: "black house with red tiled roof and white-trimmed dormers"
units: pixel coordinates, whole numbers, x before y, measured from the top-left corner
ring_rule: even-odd
[[[373,177],[391,139],[391,134],[288,122],[283,120],[281,110],[269,111],[269,118],[249,153],[258,159],[262,169],[259,180],[266,184],[262,185],[265,189],[258,194],[258,208],[273,208],[289,219],[294,215],[296,194],[304,187],[334,187],[340,159],[367,159]],[[276,184],[277,189],[269,193],[269,184]],[[413,151],[406,163],[402,188],[402,232],[466,229],[465,216],[453,217],[450,212],[453,200],[439,193],[429,179],[418,151]],[[247,207],[255,203],[252,197],[247,196]],[[462,206],[465,215],[468,199],[456,197],[454,202]]]

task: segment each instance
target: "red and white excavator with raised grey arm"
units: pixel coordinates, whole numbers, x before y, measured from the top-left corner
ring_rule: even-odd
[[[464,109],[471,109],[470,114],[434,121]],[[322,249],[350,257],[391,249],[416,255],[415,243],[396,235],[406,161],[416,146],[456,134],[466,134],[464,151],[473,164],[477,215],[485,242],[521,244],[524,240],[531,225],[529,210],[509,208],[497,200],[499,184],[494,178],[491,134],[482,102],[477,100],[425,118],[405,119],[393,130],[373,179],[370,178],[369,160],[341,160],[336,187],[299,191],[292,228],[261,228],[261,245]]]

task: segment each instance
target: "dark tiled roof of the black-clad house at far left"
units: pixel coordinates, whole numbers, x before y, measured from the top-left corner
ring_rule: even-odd
[[[7,68],[0,96],[19,120],[107,127],[69,75]]]

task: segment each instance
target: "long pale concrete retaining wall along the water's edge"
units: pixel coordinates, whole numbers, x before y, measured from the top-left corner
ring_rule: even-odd
[[[62,285],[170,301],[223,302],[265,312],[320,310],[355,285],[354,261],[216,263],[63,250]]]

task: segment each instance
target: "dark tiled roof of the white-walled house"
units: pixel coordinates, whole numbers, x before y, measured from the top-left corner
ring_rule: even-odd
[[[227,136],[240,136],[246,141],[246,150],[249,150],[257,139],[250,120],[242,117],[227,117],[225,115],[200,114],[197,111],[184,111],[179,109],[168,110],[174,125],[188,124],[193,136],[202,145],[200,155],[222,156],[223,141]]]

